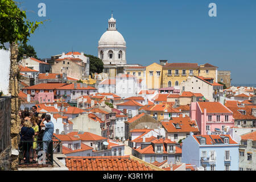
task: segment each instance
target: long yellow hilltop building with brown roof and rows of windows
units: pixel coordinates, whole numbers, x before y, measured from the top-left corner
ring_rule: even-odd
[[[163,65],[163,88],[179,86],[188,76],[197,76],[197,63],[166,63]]]

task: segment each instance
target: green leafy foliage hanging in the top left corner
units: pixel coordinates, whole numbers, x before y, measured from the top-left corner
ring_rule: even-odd
[[[26,19],[26,12],[18,8],[13,0],[0,0],[0,48],[4,43],[27,43],[39,24]]]

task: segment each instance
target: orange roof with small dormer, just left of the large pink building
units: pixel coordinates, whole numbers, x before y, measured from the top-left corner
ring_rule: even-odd
[[[179,128],[176,128],[176,123],[179,124]],[[192,125],[195,125],[191,121],[189,117],[173,117],[169,122],[162,122],[162,126],[168,133],[179,133],[179,132],[198,132],[199,129],[197,127],[193,127]]]

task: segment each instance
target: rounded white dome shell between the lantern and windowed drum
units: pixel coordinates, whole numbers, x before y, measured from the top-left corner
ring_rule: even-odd
[[[108,30],[101,36],[98,44],[126,44],[126,42],[117,30]]]

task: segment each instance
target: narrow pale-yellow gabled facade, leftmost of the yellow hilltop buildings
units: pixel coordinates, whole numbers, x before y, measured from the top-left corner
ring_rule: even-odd
[[[157,63],[146,67],[146,85],[147,89],[162,88],[163,66]]]

